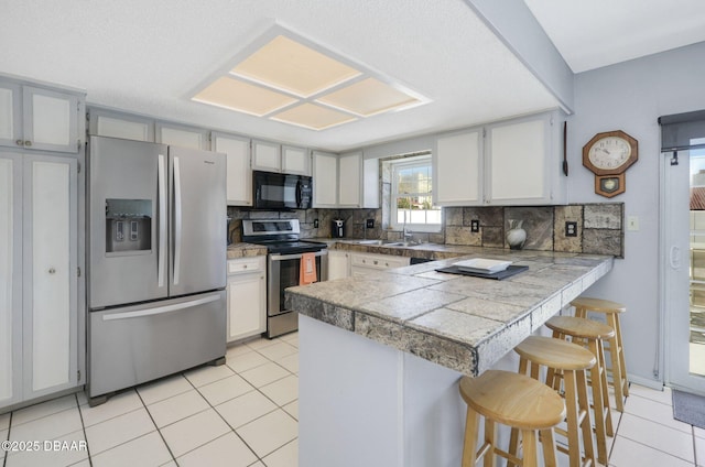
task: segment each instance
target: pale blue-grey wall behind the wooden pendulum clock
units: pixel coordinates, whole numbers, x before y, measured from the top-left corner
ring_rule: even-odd
[[[663,115],[705,109],[705,43],[625,62],[575,76],[575,115],[568,119],[571,203],[605,202],[582,164],[583,145],[601,131],[623,130],[639,141],[639,161],[627,172],[625,217],[638,216],[639,231],[625,231],[625,259],[589,292],[628,307],[622,317],[628,371],[663,379],[658,349],[659,171]],[[687,208],[687,207],[684,207]],[[660,372],[654,377],[653,371]]]

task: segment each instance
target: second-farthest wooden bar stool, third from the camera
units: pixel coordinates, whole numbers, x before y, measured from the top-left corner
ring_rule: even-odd
[[[607,436],[615,436],[615,430],[612,428],[612,416],[607,395],[607,371],[605,371],[603,341],[614,337],[615,330],[606,324],[574,316],[554,316],[546,322],[546,327],[553,330],[555,338],[566,339],[567,336],[571,336],[574,344],[586,344],[595,356],[596,362],[590,369],[590,388],[593,389],[597,461],[607,465]]]

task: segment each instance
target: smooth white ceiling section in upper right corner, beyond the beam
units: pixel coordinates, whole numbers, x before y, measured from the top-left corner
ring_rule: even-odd
[[[524,0],[574,73],[705,41],[703,0]]]

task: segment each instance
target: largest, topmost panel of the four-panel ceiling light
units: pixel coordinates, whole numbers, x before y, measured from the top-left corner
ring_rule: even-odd
[[[278,35],[230,70],[301,97],[328,89],[361,73],[284,35]]]

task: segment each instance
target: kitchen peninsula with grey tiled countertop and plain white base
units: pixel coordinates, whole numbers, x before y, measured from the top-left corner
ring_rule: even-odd
[[[300,312],[300,465],[459,465],[460,376],[516,370],[511,349],[612,268],[606,256],[464,253],[286,291]],[[529,269],[505,281],[435,271],[470,258]]]

